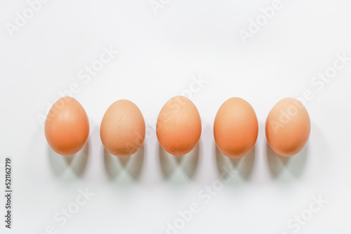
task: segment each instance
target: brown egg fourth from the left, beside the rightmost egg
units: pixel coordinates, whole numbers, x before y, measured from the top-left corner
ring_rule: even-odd
[[[246,156],[256,144],[258,121],[249,102],[239,97],[227,99],[218,109],[213,135],[220,152],[229,158]]]

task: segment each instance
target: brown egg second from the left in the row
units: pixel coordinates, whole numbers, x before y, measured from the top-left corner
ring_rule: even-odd
[[[114,156],[131,156],[145,139],[145,121],[138,106],[121,99],[106,111],[100,126],[105,149]]]

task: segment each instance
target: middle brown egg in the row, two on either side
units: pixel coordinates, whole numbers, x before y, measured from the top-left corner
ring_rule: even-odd
[[[187,97],[171,98],[159,112],[157,138],[162,148],[173,155],[194,149],[201,136],[201,118],[197,107]]]

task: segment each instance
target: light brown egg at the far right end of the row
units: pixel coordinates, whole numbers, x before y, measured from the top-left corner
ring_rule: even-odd
[[[310,137],[310,116],[297,99],[280,100],[267,116],[265,135],[268,144],[280,156],[293,156],[300,152]]]

